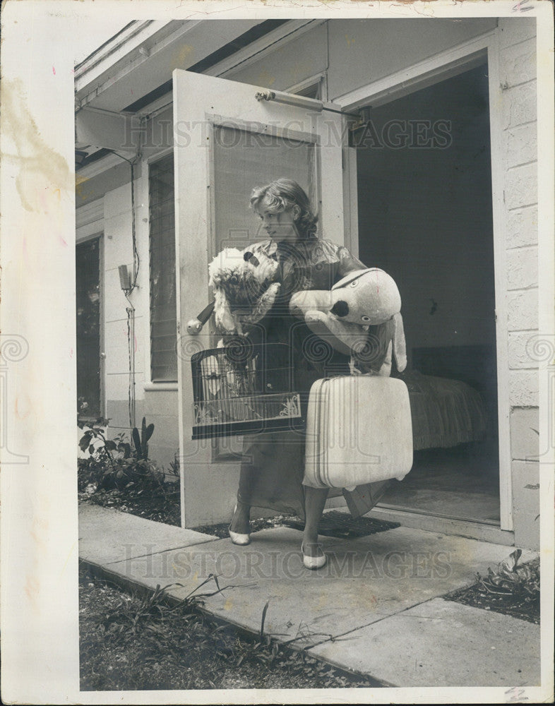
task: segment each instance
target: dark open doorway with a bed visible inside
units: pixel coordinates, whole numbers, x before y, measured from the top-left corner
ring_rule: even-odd
[[[499,525],[487,63],[366,109],[359,256],[398,283],[414,465],[382,507]]]

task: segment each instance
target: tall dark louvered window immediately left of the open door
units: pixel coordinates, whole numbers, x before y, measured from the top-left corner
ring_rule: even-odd
[[[174,155],[150,164],[150,379],[177,381]]]

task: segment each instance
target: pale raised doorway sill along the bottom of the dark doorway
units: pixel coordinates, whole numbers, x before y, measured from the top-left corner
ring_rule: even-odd
[[[378,504],[366,513],[366,517],[386,522],[399,522],[403,527],[414,527],[417,530],[428,530],[441,534],[455,534],[468,539],[479,539],[480,542],[492,542],[514,546],[515,535],[510,530],[501,530],[499,524],[475,520],[460,520],[453,517],[433,515],[412,510],[400,510]]]

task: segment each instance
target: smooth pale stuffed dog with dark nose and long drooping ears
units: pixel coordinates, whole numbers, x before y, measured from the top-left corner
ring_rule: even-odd
[[[309,289],[290,301],[293,316],[304,318],[313,333],[355,363],[362,362],[363,368],[385,376],[390,374],[392,353],[398,371],[407,366],[400,309],[397,285],[377,268],[354,270],[330,291]],[[381,361],[377,369],[373,360]]]

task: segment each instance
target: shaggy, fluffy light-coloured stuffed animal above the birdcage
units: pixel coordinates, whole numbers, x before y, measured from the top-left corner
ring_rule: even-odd
[[[277,261],[260,253],[226,248],[208,266],[215,294],[214,318],[223,333],[243,334],[245,325],[257,323],[275,301]]]

